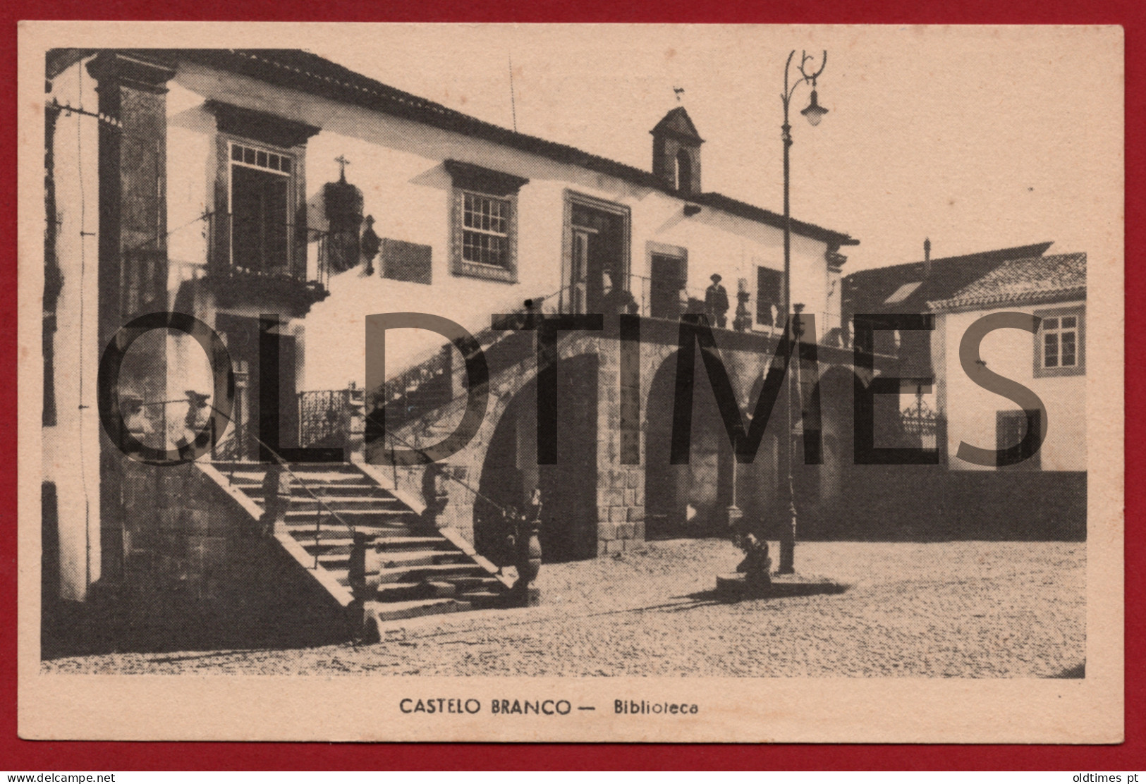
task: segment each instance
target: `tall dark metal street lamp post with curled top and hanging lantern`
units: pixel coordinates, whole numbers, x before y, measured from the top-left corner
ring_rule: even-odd
[[[827,113],[827,109],[824,109],[816,101],[816,79],[821,73],[824,72],[824,65],[827,64],[827,52],[824,52],[823,57],[819,61],[819,69],[815,71],[809,71],[808,63],[814,62],[811,55],[806,52],[800,53],[800,78],[795,83],[788,84],[788,73],[792,70],[792,58],[795,56],[795,49],[788,54],[787,63],[784,65],[784,93],[780,95],[780,101],[784,103],[784,125],[780,126],[780,139],[784,142],[784,317],[787,322],[785,327],[785,338],[790,339],[791,352],[788,354],[788,364],[791,364],[791,358],[795,358],[796,369],[800,366],[800,353],[799,353],[799,335],[798,327],[793,323],[792,319],[792,212],[790,203],[790,165],[788,165],[788,148],[792,147],[792,126],[788,124],[788,104],[792,101],[792,95],[795,93],[795,88],[802,84],[811,84],[811,102],[808,108],[800,113],[808,118],[808,121],[813,126],[819,125],[819,120],[824,118]],[[784,448],[780,449],[780,460],[784,461],[784,469],[787,473],[787,501],[788,501],[788,517],[790,524],[784,526],[780,531],[780,558],[779,558],[779,572],[782,574],[791,574],[795,571],[795,533],[796,533],[796,507],[795,507],[795,485],[792,477],[793,464],[795,463],[794,454],[794,439],[792,438],[792,409],[795,406],[796,395],[800,394],[800,390],[793,390],[793,374],[785,374],[785,383],[787,384],[787,402],[784,406],[786,414],[786,428],[784,431],[785,444]]]

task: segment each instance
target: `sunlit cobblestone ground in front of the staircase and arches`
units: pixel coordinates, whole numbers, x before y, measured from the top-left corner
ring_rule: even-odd
[[[775,548],[774,548],[775,552]],[[807,542],[842,593],[717,602],[721,540],[547,564],[542,605],[395,621],[374,645],[117,653],[47,672],[1047,677],[1085,658],[1085,544]]]

